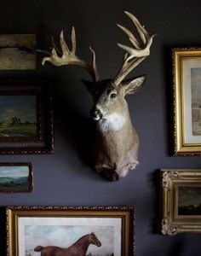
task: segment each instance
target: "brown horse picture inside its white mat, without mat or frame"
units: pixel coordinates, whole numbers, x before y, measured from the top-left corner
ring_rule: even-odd
[[[26,225],[25,248],[26,256],[40,256],[44,251],[47,255],[58,253],[70,256],[75,255],[77,250],[80,256],[114,256],[114,228],[95,225]]]

